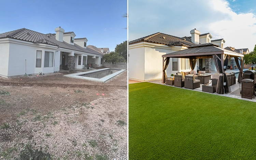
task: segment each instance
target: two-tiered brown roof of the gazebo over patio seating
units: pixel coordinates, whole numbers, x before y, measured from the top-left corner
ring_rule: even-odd
[[[228,54],[230,57],[244,57],[243,54],[219,48],[218,45],[212,43],[199,44],[188,47],[188,49],[168,53],[162,57],[173,58],[212,58],[213,54]]]

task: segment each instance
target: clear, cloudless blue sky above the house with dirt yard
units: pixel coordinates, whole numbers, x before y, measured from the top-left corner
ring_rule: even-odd
[[[61,26],[75,38],[86,37],[87,45],[114,51],[127,40],[127,0],[0,0],[0,33],[27,28],[55,33]]]

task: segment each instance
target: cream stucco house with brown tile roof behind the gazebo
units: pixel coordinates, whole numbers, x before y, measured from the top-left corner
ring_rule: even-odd
[[[187,49],[196,44],[213,43],[224,48],[224,39],[212,39],[210,33],[200,34],[194,29],[191,36],[177,37],[164,33],[155,33],[129,42],[129,79],[148,81],[162,78],[161,55]],[[194,70],[203,69],[206,72],[216,71],[212,59],[198,59]],[[170,77],[180,71],[190,71],[189,59],[171,58],[166,73]]]

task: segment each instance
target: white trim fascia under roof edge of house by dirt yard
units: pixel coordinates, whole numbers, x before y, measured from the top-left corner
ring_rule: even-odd
[[[58,46],[48,45],[48,44],[42,44],[42,43],[33,43],[33,42],[27,42],[22,41],[18,39],[12,39],[12,38],[3,38],[0,39],[0,43],[12,43],[12,44],[18,44],[18,45],[25,45],[30,47],[41,47],[41,48],[48,48],[48,49],[57,49]]]

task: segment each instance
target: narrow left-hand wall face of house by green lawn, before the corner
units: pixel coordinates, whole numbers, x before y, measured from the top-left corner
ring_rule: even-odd
[[[136,80],[145,80],[144,71],[145,71],[145,48],[132,48],[129,46],[129,78]]]

